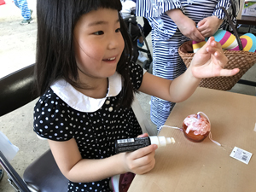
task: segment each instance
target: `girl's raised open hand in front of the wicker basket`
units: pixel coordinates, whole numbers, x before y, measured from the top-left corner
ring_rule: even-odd
[[[228,58],[224,55],[221,44],[213,37],[199,49],[191,61],[191,71],[195,78],[203,79],[217,76],[232,76],[239,72],[238,68],[224,69]]]

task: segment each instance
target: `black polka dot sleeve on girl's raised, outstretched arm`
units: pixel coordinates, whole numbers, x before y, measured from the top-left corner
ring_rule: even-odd
[[[143,82],[143,67],[137,63],[131,62],[129,66],[131,84],[138,90]]]

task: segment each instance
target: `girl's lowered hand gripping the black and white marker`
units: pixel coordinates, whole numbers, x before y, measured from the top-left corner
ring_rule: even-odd
[[[138,137],[148,137],[144,133]],[[139,148],[133,152],[124,153],[125,171],[133,172],[135,174],[143,174],[149,172],[154,168],[154,151],[157,145],[152,144],[145,148]]]

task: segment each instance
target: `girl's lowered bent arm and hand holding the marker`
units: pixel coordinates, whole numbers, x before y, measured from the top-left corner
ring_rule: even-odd
[[[141,137],[147,137],[143,134]],[[66,142],[49,140],[49,147],[62,174],[75,183],[99,181],[125,172],[143,174],[154,167],[154,150],[157,145],[149,145],[131,153],[115,154],[111,157],[90,160],[82,159],[75,139]]]

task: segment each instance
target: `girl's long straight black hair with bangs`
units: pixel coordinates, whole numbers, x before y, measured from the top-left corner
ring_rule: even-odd
[[[39,95],[43,95],[56,79],[65,79],[79,87],[73,79],[79,78],[73,45],[73,30],[81,15],[96,9],[116,9],[120,11],[119,0],[44,0],[38,1],[38,41],[35,77]],[[133,100],[128,66],[131,62],[132,45],[124,21],[119,15],[121,33],[125,49],[117,65],[117,72],[123,77],[120,93],[121,106],[130,107]]]

